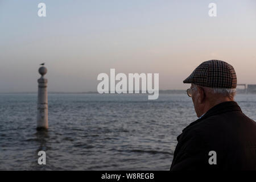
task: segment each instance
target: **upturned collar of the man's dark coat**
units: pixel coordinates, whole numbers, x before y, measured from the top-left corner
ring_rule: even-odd
[[[204,119],[206,119],[212,115],[227,113],[230,111],[241,111],[242,112],[240,106],[238,106],[237,102],[235,102],[235,101],[221,102],[220,104],[217,104],[216,106],[213,106],[212,108],[210,108],[201,118],[190,123],[190,125],[185,127],[182,131],[187,130],[189,127],[195,125],[196,123],[199,123],[200,121],[203,121]]]

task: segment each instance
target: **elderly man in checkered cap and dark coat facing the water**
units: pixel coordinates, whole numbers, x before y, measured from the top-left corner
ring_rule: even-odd
[[[256,170],[256,123],[234,101],[232,65],[205,61],[183,82],[199,119],[177,137],[171,170]]]

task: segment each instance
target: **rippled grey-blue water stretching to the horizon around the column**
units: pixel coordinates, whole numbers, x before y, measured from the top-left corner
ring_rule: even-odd
[[[49,94],[49,130],[36,131],[36,99],[0,94],[0,169],[168,170],[177,135],[196,119],[186,94]],[[236,101],[256,121],[256,96]]]

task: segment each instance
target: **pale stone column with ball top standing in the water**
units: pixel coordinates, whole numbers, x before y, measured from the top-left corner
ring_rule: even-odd
[[[47,69],[46,67],[40,67],[38,72],[41,77],[38,79],[38,116],[36,129],[48,129],[47,79],[44,78]]]

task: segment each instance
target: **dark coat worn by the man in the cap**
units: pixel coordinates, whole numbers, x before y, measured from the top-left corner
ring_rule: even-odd
[[[256,170],[256,123],[234,101],[209,109],[177,141],[171,170]],[[209,164],[209,151],[217,164]]]

